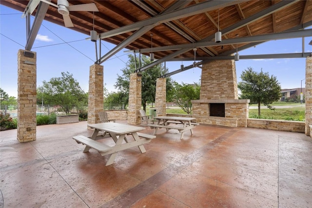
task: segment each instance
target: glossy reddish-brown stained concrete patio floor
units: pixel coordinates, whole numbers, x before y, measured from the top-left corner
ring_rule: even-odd
[[[180,140],[160,129],[146,153],[118,152],[106,167],[109,155],[83,153],[72,139],[92,132],[87,122],[38,126],[27,143],[0,132],[0,207],[312,207],[312,139],[303,133],[201,124]]]

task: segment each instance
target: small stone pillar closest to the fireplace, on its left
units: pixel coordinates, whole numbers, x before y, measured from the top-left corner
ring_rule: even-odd
[[[166,78],[156,79],[156,97],[155,97],[155,108],[156,115],[166,115]]]

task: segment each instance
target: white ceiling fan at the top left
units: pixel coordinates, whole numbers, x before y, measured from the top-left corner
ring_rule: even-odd
[[[74,24],[69,17],[69,11],[98,12],[98,8],[95,3],[85,3],[70,6],[67,0],[58,0],[58,5],[48,0],[41,1],[58,8],[59,14],[63,16],[65,27],[74,27]]]

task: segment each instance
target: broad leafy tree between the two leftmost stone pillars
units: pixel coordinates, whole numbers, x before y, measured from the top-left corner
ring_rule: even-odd
[[[88,95],[80,88],[79,82],[72,74],[62,72],[61,75],[51,78],[48,82],[44,80],[43,85],[37,89],[37,94],[43,95],[44,103],[59,105],[68,114],[74,105],[86,104]]]

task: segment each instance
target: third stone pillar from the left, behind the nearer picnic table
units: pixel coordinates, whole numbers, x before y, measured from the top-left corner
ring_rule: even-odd
[[[133,73],[129,83],[128,124],[141,124],[140,112],[142,106],[142,75]]]

